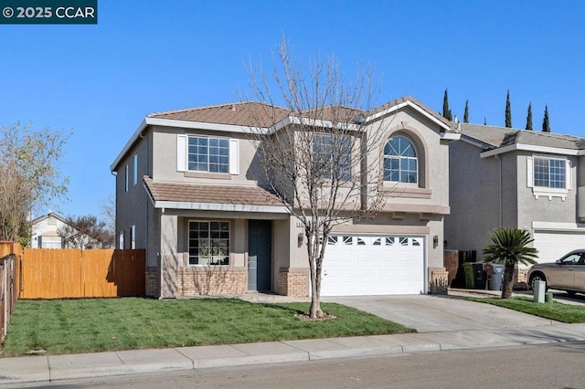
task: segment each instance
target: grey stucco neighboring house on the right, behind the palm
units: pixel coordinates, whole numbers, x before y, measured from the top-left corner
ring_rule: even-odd
[[[585,139],[457,123],[445,247],[481,250],[497,226],[530,231],[539,262],[585,247]]]

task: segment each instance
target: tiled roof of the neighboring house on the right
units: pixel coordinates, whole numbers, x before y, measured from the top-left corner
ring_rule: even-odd
[[[455,123],[453,129],[461,133],[463,141],[481,147],[485,152],[490,152],[490,155],[520,149],[543,152],[557,149],[577,154],[585,149],[585,139],[573,135],[470,123]]]

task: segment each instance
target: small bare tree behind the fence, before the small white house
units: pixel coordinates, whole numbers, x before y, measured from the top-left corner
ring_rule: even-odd
[[[107,248],[113,246],[114,235],[106,223],[96,216],[69,216],[67,224],[58,228],[58,235],[73,248]]]

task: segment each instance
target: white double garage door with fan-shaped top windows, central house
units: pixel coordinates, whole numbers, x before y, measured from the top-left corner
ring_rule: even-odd
[[[329,237],[323,262],[321,295],[422,293],[423,243],[423,237]]]

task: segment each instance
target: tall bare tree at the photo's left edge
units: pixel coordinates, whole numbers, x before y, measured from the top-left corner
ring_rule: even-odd
[[[32,131],[19,123],[0,128],[0,240],[27,244],[29,215],[64,197],[69,180],[58,163],[70,134]]]

